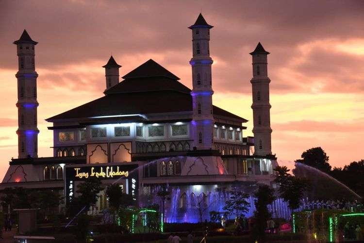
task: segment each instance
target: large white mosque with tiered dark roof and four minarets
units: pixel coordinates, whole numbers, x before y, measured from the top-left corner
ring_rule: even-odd
[[[38,43],[24,30],[14,41],[19,66],[18,158],[9,162],[0,189],[52,189],[64,193],[67,203],[77,196],[79,183],[97,176],[103,184],[120,183],[141,206],[159,204],[156,192],[169,190],[166,221],[195,222],[196,208],[221,210],[232,187],[272,184],[278,164],[271,152],[269,52],[260,43],[250,52],[254,138],[244,137],[247,120],[212,103],[213,26],[199,14],[188,28],[192,90],[152,59],[119,82],[121,66],[111,56],[102,67],[106,86],[101,98],[46,119],[53,131],[52,157],[37,155]],[[89,213],[106,207],[101,191]]]

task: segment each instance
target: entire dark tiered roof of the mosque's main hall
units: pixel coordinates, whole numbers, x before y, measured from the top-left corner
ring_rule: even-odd
[[[147,70],[152,74],[149,75]],[[192,111],[191,89],[151,59],[123,78],[124,81],[106,90],[104,97],[48,118],[47,121]],[[213,107],[213,113],[241,122],[247,121],[216,106]]]

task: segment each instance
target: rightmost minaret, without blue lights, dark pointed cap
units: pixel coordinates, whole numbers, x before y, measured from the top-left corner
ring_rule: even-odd
[[[253,133],[255,155],[271,155],[271,133],[269,83],[267,71],[267,55],[259,42],[254,52],[250,52],[253,58],[253,78],[250,80],[253,92]]]

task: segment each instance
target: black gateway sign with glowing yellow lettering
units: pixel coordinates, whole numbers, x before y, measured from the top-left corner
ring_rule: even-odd
[[[131,194],[133,200],[138,195],[138,164],[89,164],[87,166],[75,165],[65,166],[65,193],[66,203],[69,203],[75,196],[77,186],[89,177],[110,180],[112,183],[120,179],[118,183],[125,184],[125,192]],[[78,182],[76,184],[76,182]],[[76,195],[77,196],[77,195]]]

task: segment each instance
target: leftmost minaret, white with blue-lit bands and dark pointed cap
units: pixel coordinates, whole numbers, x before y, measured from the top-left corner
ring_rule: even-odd
[[[18,109],[18,157],[38,157],[37,128],[37,77],[34,65],[34,46],[24,30],[20,39],[13,42],[17,45],[19,70],[17,77],[17,109]]]

